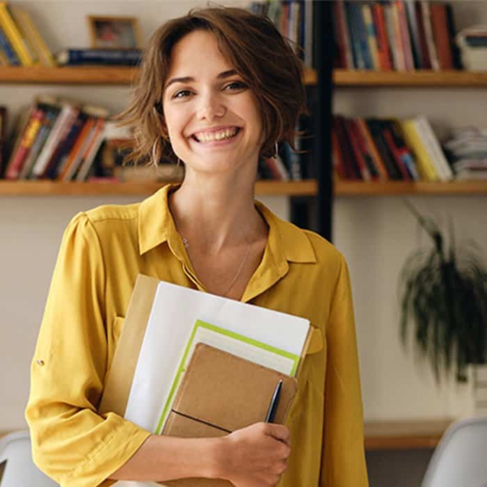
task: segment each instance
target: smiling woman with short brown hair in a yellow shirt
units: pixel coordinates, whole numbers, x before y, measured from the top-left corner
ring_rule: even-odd
[[[346,262],[254,199],[259,158],[292,145],[303,111],[300,61],[265,17],[203,8],[152,36],[118,120],[134,129],[134,161],[186,173],[136,205],[78,214],[63,236],[26,409],[35,463],[62,486],[367,486]],[[173,438],[97,413],[138,273],[310,320],[319,340],[286,425]]]

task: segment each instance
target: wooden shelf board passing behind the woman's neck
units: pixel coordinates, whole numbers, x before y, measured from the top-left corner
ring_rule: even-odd
[[[150,195],[163,182],[54,182],[54,181],[0,181],[3,196],[61,196],[61,195]],[[255,193],[259,196],[314,196],[318,184],[314,179],[279,182],[258,181]]]

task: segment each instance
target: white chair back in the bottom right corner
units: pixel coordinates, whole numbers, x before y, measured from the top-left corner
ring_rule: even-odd
[[[457,421],[445,431],[422,487],[487,487],[487,417]]]

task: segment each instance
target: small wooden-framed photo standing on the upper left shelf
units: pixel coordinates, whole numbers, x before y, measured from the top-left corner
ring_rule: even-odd
[[[135,17],[88,16],[91,47],[97,49],[137,49],[141,34]]]

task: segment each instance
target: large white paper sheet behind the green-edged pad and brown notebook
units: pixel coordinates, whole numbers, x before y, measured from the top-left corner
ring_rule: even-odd
[[[160,282],[127,401],[127,420],[155,431],[197,319],[297,355],[301,355],[310,325],[307,319],[291,314]],[[116,484],[117,487],[157,485],[133,481]]]

